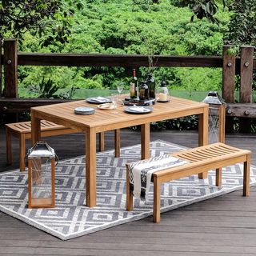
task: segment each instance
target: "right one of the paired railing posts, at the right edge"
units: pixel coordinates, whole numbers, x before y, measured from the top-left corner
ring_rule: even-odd
[[[240,103],[252,102],[252,83],[254,72],[254,47],[241,46],[240,64]],[[251,118],[240,118],[241,133],[250,133]]]

